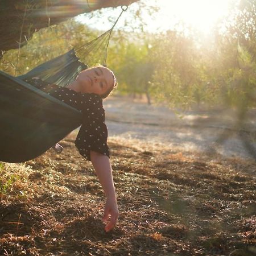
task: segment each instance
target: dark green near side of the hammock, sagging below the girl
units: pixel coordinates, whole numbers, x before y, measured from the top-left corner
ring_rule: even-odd
[[[0,160],[24,162],[43,154],[80,126],[82,114],[0,71]]]

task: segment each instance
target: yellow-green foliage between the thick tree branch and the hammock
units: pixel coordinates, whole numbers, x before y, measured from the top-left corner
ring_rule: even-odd
[[[5,53],[0,69],[11,75],[22,75],[37,65],[59,56],[73,47],[81,47],[94,39],[98,34],[85,25],[69,20],[44,28],[35,34],[22,48]]]

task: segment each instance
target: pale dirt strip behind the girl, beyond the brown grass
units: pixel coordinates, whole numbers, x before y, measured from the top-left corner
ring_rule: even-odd
[[[240,125],[238,113],[228,109],[174,112],[125,97],[109,98],[104,106],[110,136],[164,143],[181,151],[256,159],[256,109]],[[247,147],[247,141],[254,150]]]

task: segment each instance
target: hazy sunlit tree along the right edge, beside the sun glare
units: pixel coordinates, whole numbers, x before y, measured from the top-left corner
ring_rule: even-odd
[[[256,102],[256,3],[242,0],[226,20],[225,35],[217,38],[221,50],[222,96],[226,105],[247,109]],[[244,110],[243,110],[244,111]]]

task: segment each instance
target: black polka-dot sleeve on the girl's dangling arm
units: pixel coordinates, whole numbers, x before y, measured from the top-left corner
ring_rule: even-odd
[[[84,118],[75,141],[80,154],[89,161],[91,150],[109,157],[108,129],[105,124],[105,111],[102,106],[102,100],[90,103],[82,111]]]

